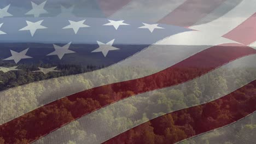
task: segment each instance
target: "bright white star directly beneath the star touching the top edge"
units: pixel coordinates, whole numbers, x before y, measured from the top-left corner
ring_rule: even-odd
[[[30,31],[31,36],[33,37],[34,33],[36,33],[37,29],[45,29],[47,27],[44,27],[41,25],[43,20],[40,20],[38,22],[31,22],[31,21],[26,21],[27,26],[24,28],[21,28],[19,31]]]

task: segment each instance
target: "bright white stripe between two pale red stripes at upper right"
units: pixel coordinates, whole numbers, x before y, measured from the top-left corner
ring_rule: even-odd
[[[252,16],[256,12],[255,6],[255,0],[244,0],[217,20],[203,25],[191,26],[190,28],[220,37]]]

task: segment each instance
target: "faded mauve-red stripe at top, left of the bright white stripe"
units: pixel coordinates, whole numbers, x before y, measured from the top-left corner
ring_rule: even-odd
[[[186,1],[159,22],[168,25],[189,27],[211,13],[212,10],[216,9],[224,1],[225,0]]]

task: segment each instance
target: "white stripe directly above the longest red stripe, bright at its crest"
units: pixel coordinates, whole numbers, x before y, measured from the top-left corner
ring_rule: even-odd
[[[211,47],[211,45],[223,43],[234,43],[234,41],[221,37],[214,38],[211,35],[196,31],[179,33],[165,38],[125,61],[108,68],[10,88],[0,92],[0,100],[2,101],[0,103],[0,124],[34,110],[40,105],[48,104],[85,89],[157,73]],[[182,44],[184,46],[175,46]],[[120,71],[123,71],[124,75],[121,75]],[[113,77],[111,77],[112,75]],[[11,109],[17,109],[17,111],[9,113]]]

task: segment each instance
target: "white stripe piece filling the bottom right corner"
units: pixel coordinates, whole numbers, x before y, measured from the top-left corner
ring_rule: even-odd
[[[208,131],[177,143],[207,143],[206,141],[209,143],[231,142],[232,144],[255,143],[256,128],[255,126],[252,128],[255,124],[256,112],[222,128]]]

